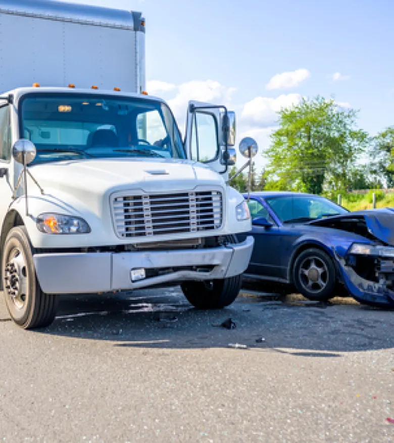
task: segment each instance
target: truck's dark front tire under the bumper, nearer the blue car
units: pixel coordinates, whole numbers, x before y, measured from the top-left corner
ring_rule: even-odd
[[[235,235],[226,237],[228,243],[238,243]],[[231,305],[241,290],[242,276],[210,281],[185,281],[182,291],[187,301],[198,309],[223,309]]]

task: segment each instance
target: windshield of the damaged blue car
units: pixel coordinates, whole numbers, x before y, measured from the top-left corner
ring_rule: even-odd
[[[266,198],[282,223],[303,223],[348,211],[326,198],[308,195],[286,195]]]

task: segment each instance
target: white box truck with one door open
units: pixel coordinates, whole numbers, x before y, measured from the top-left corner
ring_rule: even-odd
[[[145,92],[140,13],[0,0],[0,290],[16,324],[62,294],[180,284],[194,306],[240,289],[253,238],[228,186],[235,117],[191,102],[184,139]]]

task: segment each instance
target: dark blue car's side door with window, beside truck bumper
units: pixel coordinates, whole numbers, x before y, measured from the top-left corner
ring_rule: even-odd
[[[255,238],[251,263],[247,274],[261,275],[268,278],[286,278],[286,267],[281,260],[282,239],[281,228],[276,224],[268,209],[256,198],[248,203],[252,220],[264,217],[272,224],[271,227],[253,226]]]

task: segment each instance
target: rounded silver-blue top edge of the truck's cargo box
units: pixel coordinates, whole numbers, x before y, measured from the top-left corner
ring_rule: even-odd
[[[144,32],[139,12],[54,0],[0,0],[0,13]]]

